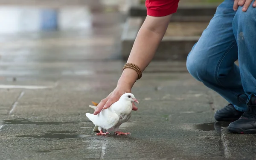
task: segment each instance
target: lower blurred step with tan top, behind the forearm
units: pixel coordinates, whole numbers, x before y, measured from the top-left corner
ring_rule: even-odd
[[[143,23],[141,17],[129,17],[122,34],[122,57],[126,60]],[[187,55],[208,26],[205,22],[170,22],[153,60],[186,60]]]

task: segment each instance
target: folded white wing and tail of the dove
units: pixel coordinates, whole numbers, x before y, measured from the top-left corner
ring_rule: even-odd
[[[86,113],[86,117],[88,117],[94,125],[100,126],[103,129],[110,129],[111,127],[115,126],[119,121],[119,116],[116,113],[110,111],[109,109],[103,109],[97,115]]]

